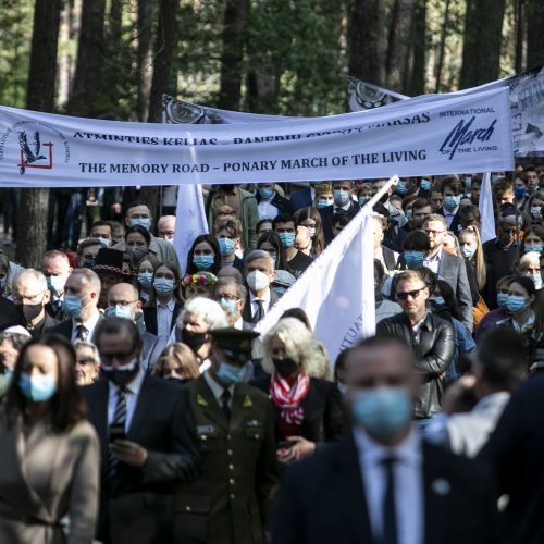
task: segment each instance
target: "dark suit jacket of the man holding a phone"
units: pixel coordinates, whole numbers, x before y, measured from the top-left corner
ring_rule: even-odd
[[[115,544],[170,542],[174,486],[196,478],[199,460],[187,393],[176,384],[145,376],[127,440],[145,447],[148,458],[141,468],[120,462],[113,486],[106,481],[109,382],[100,378],[82,393],[101,445],[98,539]]]

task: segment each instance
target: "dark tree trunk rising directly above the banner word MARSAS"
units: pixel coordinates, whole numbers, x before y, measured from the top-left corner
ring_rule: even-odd
[[[406,59],[410,51],[410,33],[416,0],[395,0],[387,39],[387,55],[385,58],[386,86],[393,90],[403,91],[406,70]]]

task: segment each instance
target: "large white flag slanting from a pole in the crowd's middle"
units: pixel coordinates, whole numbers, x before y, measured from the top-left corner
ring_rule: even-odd
[[[308,314],[331,360],[375,334],[371,208],[364,207],[285,293],[256,331],[265,334],[289,308]]]

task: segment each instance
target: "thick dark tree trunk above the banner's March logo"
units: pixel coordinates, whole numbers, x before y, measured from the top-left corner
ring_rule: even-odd
[[[467,3],[460,88],[497,79],[505,0]]]

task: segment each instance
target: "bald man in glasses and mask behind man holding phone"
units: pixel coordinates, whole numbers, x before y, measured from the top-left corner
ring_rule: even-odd
[[[143,343],[140,366],[147,372],[152,372],[162,349],[165,347],[165,342],[160,339],[157,335],[146,331],[138,289],[129,283],[118,283],[113,285],[108,293],[106,316],[125,318],[134,321]]]

